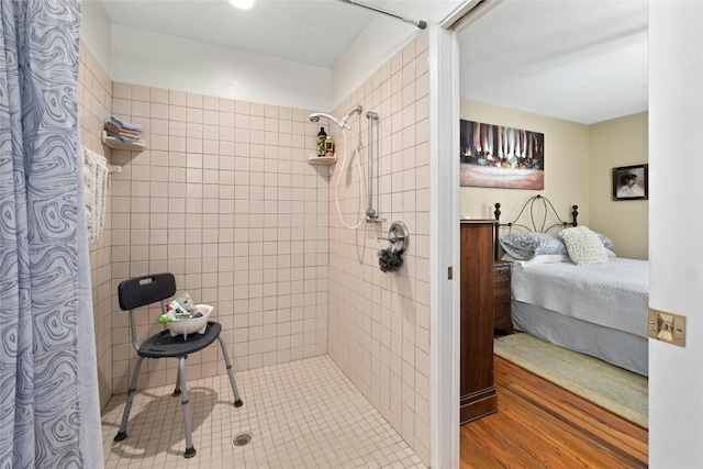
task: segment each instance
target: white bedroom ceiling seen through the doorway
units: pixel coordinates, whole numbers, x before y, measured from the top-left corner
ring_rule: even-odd
[[[592,124],[646,111],[646,1],[504,1],[460,33],[461,96]]]

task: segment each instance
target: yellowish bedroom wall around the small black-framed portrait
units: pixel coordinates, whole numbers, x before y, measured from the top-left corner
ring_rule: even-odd
[[[648,114],[640,112],[590,126],[590,227],[613,239],[621,257],[649,258],[649,201],[614,201],[612,170],[649,161]]]

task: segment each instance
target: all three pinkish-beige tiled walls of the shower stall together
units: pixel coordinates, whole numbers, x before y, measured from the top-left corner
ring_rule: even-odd
[[[122,167],[111,175],[105,231],[90,252],[103,414],[114,405],[108,405],[113,395],[123,403],[136,360],[116,286],[129,277],[170,271],[179,291],[215,304],[214,317],[223,326],[222,337],[242,380],[245,407],[247,394],[256,402],[252,395],[261,387],[243,378],[249,376],[245,373],[322,359],[327,368],[321,380],[332,372],[328,367],[339,371],[332,382],[345,390],[350,383],[369,412],[378,413],[379,425],[389,425],[408,454],[416,455],[386,458],[388,465],[427,465],[427,33],[331,111],[342,115],[360,103],[365,112],[380,114],[380,155],[375,157],[380,158],[380,215],[387,221],[357,231],[344,228],[337,217],[341,161],[331,167],[306,163],[315,152],[320,125],[333,131],[338,156],[345,147],[343,135],[327,122],[310,123],[312,110],[113,82],[85,46],[80,59],[82,144]],[[110,115],[140,123],[147,149],[104,147],[100,136]],[[360,142],[368,142],[366,118],[355,118],[352,126]],[[346,220],[354,220],[358,203],[359,178],[355,170],[350,175],[341,194]],[[378,236],[394,220],[409,225],[411,243],[401,271],[383,273],[377,252],[388,245]],[[160,330],[156,314],[142,319],[141,336]],[[219,347],[209,347],[189,356],[189,380],[204,388],[219,386],[213,380],[226,377],[219,354]],[[314,369],[306,379],[315,379]],[[148,360],[138,389],[170,387],[176,376],[176,360]],[[194,405],[198,398],[193,397]],[[135,405],[140,399],[147,398],[137,393]],[[220,400],[227,399],[224,387]],[[179,403],[170,405],[180,413]],[[197,435],[196,431],[198,448]],[[111,439],[112,435],[103,437],[108,436]],[[179,448],[174,438],[174,448]],[[108,457],[110,444],[105,445]],[[199,453],[196,459],[201,456],[205,457]],[[180,453],[168,457],[182,459]],[[353,467],[352,460],[345,464]]]

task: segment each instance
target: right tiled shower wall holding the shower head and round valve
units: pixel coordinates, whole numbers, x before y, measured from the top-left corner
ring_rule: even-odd
[[[343,115],[358,103],[364,105],[365,114],[367,111],[380,114],[380,216],[387,221],[380,225],[365,224],[358,232],[342,227],[334,204],[336,171],[342,165],[335,165],[330,196],[330,355],[423,462],[428,464],[427,33],[422,33],[377,70],[335,113]],[[367,119],[364,116],[357,123],[355,118],[353,123],[355,130],[362,130],[361,142],[366,145]],[[356,208],[356,189],[342,193],[346,194],[342,198],[343,212]],[[373,208],[376,193],[373,183]],[[347,224],[353,219],[354,214],[345,213]],[[377,253],[389,244],[377,236],[387,235],[395,220],[408,224],[410,244],[400,271],[384,273],[378,267]]]

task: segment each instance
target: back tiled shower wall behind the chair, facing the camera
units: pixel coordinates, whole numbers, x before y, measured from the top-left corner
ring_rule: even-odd
[[[328,180],[306,163],[309,111],[115,82],[112,113],[144,127],[147,149],[112,152],[112,290],[170,271],[214,303],[236,370],[327,351]],[[126,313],[112,304],[113,391],[135,362]],[[137,334],[161,328],[158,312]],[[217,347],[188,377],[224,373]],[[174,383],[177,362],[148,360],[140,387]]]

